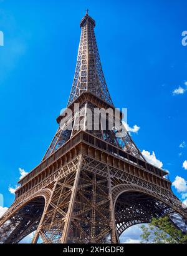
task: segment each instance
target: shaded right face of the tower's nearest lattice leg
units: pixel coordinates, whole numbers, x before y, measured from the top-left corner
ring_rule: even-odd
[[[67,242],[110,242],[108,179],[94,173],[95,167],[94,163],[88,166],[85,160],[82,163]],[[103,169],[107,172],[106,166]]]

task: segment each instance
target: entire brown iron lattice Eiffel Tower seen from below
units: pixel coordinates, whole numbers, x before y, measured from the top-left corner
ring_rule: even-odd
[[[87,126],[88,110],[114,110],[94,27],[87,11],[67,104],[72,116],[57,118],[41,163],[19,180],[14,203],[0,219],[1,243],[18,243],[34,231],[32,243],[120,243],[128,227],[164,215],[186,232],[187,212],[165,170],[143,158],[126,130],[117,136],[108,128],[110,113],[107,128],[101,128],[102,118],[99,129]]]

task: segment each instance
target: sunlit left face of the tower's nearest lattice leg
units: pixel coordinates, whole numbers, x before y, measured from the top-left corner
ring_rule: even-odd
[[[80,163],[81,156],[78,156],[59,170],[52,195],[32,243],[36,243],[39,236],[44,243],[64,243],[67,240]]]

